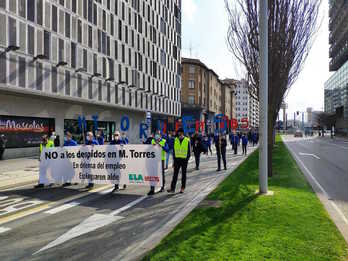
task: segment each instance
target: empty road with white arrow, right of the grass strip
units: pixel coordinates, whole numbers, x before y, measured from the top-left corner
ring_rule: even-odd
[[[312,186],[318,188],[319,198],[324,199],[324,206],[347,240],[348,140],[292,136],[283,140]]]

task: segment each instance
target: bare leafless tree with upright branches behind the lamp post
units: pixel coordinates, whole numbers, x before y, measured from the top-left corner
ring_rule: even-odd
[[[268,0],[268,3],[268,175],[272,176],[273,129],[282,101],[312,46],[319,27],[321,0]],[[249,84],[259,90],[258,0],[225,0],[225,6],[229,16],[229,49],[245,66]]]

